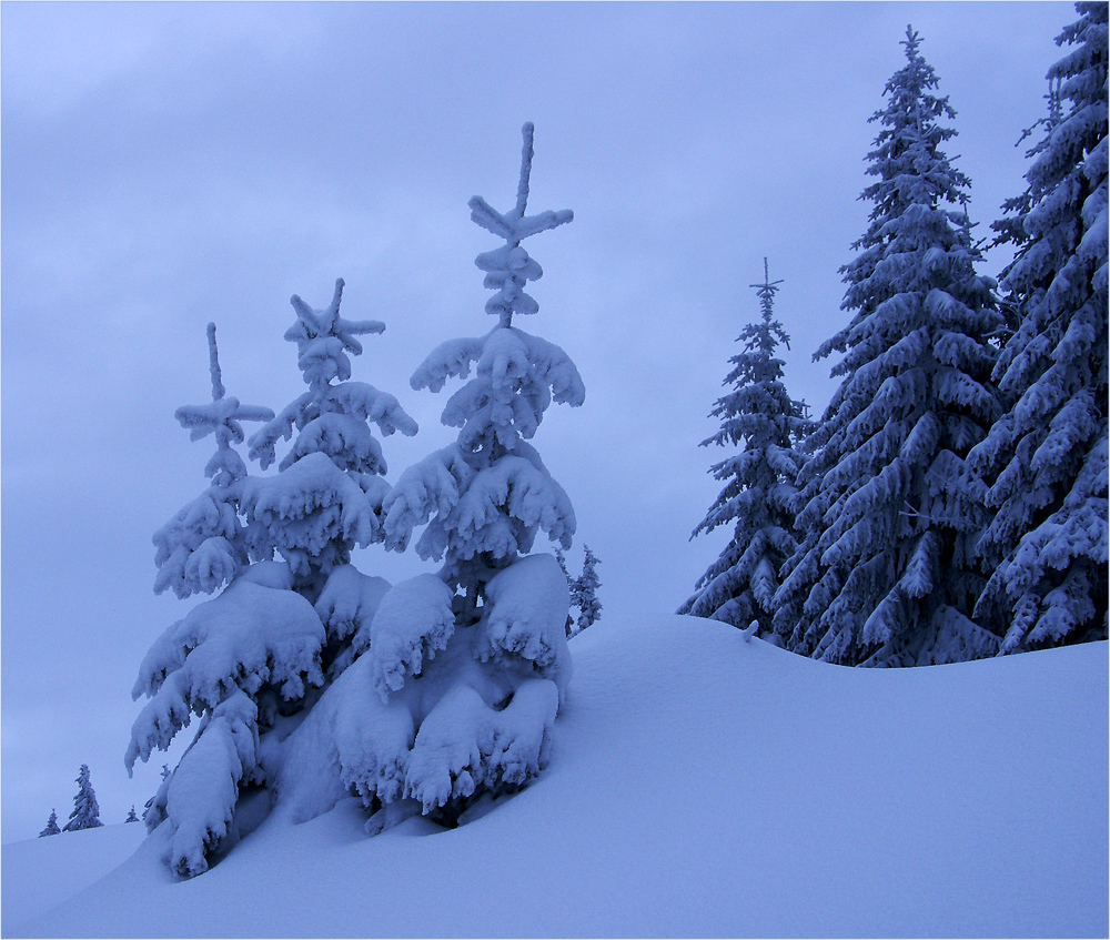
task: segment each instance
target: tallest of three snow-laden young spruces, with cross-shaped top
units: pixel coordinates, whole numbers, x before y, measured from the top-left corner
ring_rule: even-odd
[[[561,348],[513,325],[538,310],[523,289],[542,274],[521,242],[573,218],[525,215],[532,137],[526,124],[516,205],[470,203],[505,240],[476,260],[497,291],[486,304],[497,325],[438,346],[412,377],[438,391],[474,366],[443,412],[458,438],[408,467],[383,506],[387,547],[403,550],[423,525],[416,550],[443,565],[386,594],[355,636],[366,651],[294,732],[283,771],[294,818],[351,789],[374,813],[367,831],[416,812],[454,825],[482,795],[512,792],[546,764],[571,678],[568,590],[552,555],[527,553],[539,530],[569,547],[575,519],[527,441],[553,398],[579,405],[585,390]]]

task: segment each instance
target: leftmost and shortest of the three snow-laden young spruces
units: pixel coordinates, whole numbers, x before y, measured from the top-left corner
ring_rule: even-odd
[[[212,402],[185,405],[175,417],[192,439],[215,437],[208,466],[214,479],[155,534],[155,592],[172,585],[186,597],[198,588],[230,585],[173,624],[148,651],[131,694],[151,700],[132,726],[125,756],[130,775],[137,759],[165,750],[192,715],[201,716],[175,770],[163,765],[162,785],[143,813],[151,831],[169,820],[174,836],[167,861],[183,876],[208,868],[206,856],[229,832],[241,786],[263,779],[258,772],[260,698],[272,697],[273,689],[302,695],[306,680],[322,681],[323,628],[312,606],[287,592],[287,572],[246,564],[239,520],[246,467],[232,444],[244,438],[242,421],[268,421],[273,412],[225,396],[214,325],[209,324],[208,335]],[[190,567],[194,558],[214,562]],[[195,574],[190,577],[190,572]]]

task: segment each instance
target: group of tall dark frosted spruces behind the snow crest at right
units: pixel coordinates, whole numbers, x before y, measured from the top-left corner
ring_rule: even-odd
[[[786,393],[777,284],[757,285],[705,444],[741,445],[695,535],[735,520],[679,613],[830,663],[959,661],[1107,635],[1107,6],[1077,3],[1026,191],[979,274],[947,98],[907,30],[841,269],[840,386],[819,422]]]

